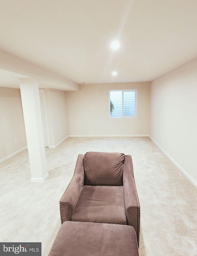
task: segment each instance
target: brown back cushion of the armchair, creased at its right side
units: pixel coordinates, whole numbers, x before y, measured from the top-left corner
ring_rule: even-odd
[[[123,186],[123,153],[87,152],[83,157],[84,185]]]

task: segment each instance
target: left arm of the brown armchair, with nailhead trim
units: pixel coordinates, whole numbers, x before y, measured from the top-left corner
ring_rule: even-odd
[[[61,223],[71,221],[72,213],[78,203],[84,184],[83,156],[78,155],[74,175],[60,199]]]

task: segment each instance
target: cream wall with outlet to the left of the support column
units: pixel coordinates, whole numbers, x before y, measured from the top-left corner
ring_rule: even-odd
[[[26,146],[20,90],[0,87],[0,160]]]

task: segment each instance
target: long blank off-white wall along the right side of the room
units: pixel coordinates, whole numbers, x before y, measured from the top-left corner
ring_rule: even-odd
[[[197,59],[151,83],[150,135],[197,182]]]

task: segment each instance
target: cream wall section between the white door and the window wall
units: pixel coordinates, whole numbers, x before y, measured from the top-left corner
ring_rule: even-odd
[[[49,146],[54,147],[69,135],[66,97],[64,91],[44,89],[44,92],[49,127]]]

